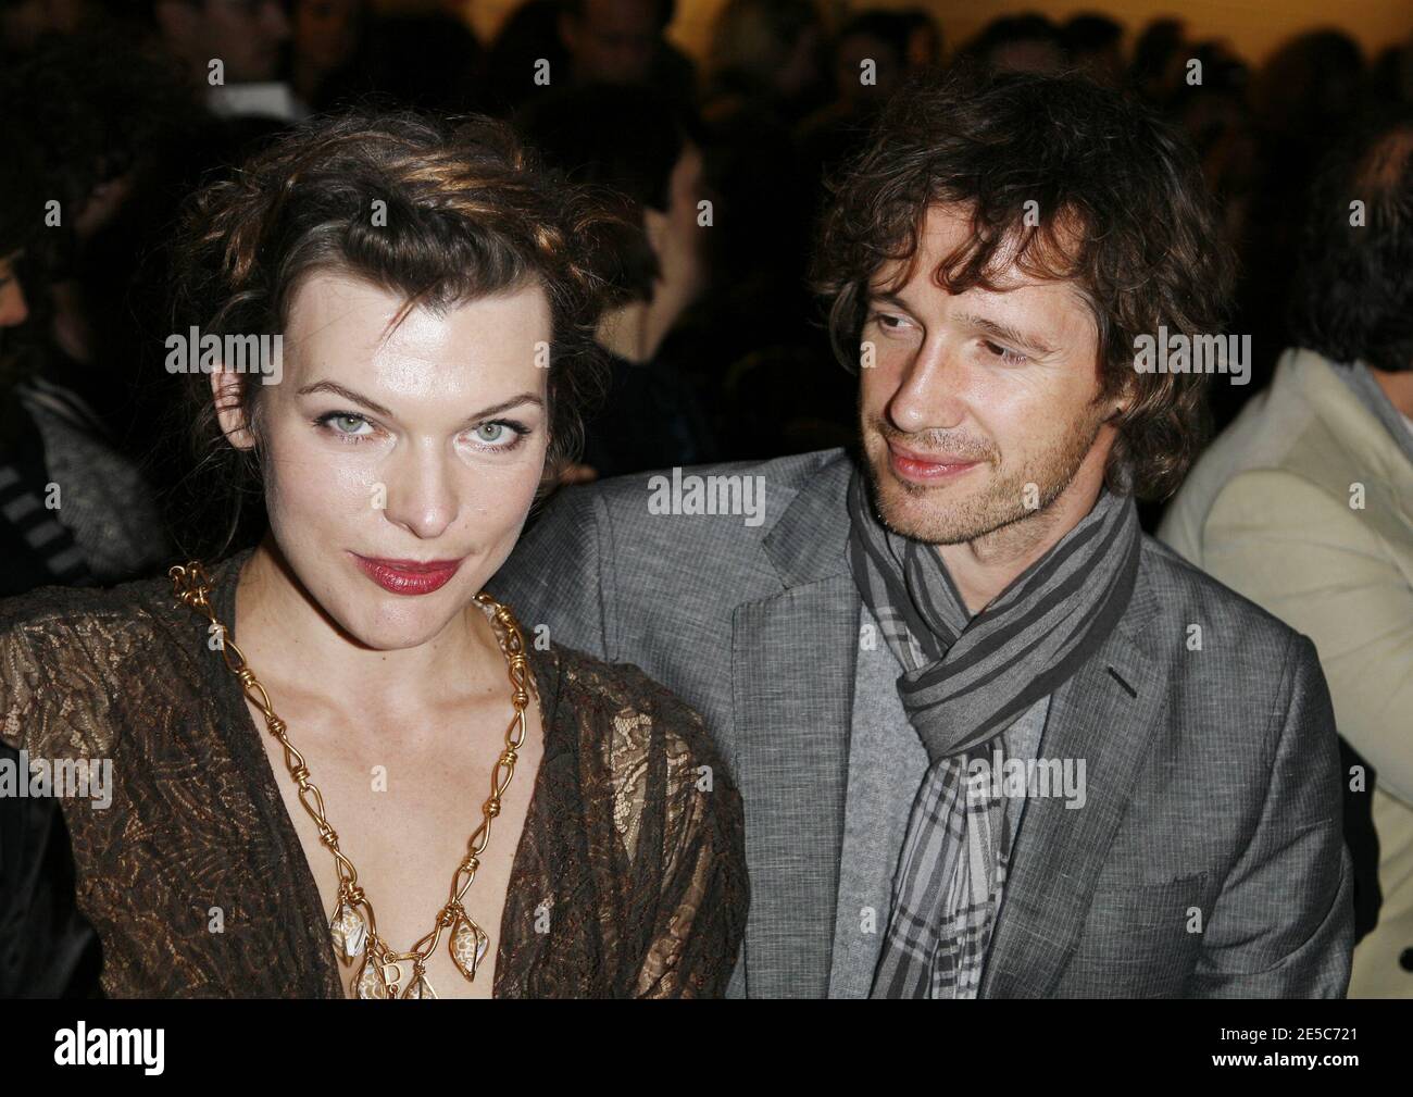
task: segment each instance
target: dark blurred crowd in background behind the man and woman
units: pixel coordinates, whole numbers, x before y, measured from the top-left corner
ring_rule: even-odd
[[[102,520],[65,500],[62,524],[24,534],[31,557],[48,539],[47,573],[11,570],[0,592],[168,563],[155,530],[184,520],[171,488],[187,458],[160,444],[164,242],[201,181],[311,113],[374,100],[512,119],[640,226],[617,246],[629,301],[605,328],[612,393],[575,479],[853,442],[856,382],[810,293],[811,228],[831,172],[918,69],[1078,66],[1188,134],[1241,259],[1231,331],[1253,346],[1252,383],[1214,386],[1218,426],[1289,344],[1297,209],[1321,151],[1413,102],[1413,38],[1368,57],[1311,30],[1253,69],[1177,18],[1007,16],[951,42],[921,8],[827,23],[811,0],[729,0],[698,64],[666,37],[674,8],[528,0],[478,41],[454,14],[362,0],[0,0],[0,505],[30,506],[14,493],[54,476],[57,454],[106,469],[88,475]]]

